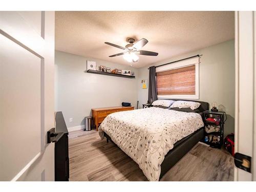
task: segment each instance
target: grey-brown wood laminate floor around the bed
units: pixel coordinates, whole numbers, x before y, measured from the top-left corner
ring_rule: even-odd
[[[70,181],[147,181],[139,165],[95,130],[69,133]],[[233,158],[197,143],[161,181],[233,181]]]

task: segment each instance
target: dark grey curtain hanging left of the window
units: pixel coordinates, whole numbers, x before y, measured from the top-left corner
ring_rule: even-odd
[[[152,99],[152,100],[151,100]],[[157,82],[156,82],[156,67],[150,67],[150,75],[148,77],[148,101],[154,102],[157,100]]]

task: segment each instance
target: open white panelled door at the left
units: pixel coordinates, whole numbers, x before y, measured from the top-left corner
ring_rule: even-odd
[[[0,180],[53,181],[54,12],[0,11]]]

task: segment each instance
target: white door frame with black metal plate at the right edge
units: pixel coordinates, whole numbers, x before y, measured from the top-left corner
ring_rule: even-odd
[[[251,173],[234,168],[235,181],[256,181],[256,14],[236,12],[235,152],[251,157]]]

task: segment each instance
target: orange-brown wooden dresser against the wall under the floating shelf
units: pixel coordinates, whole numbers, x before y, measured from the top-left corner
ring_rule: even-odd
[[[110,108],[94,108],[93,111],[93,125],[96,126],[98,131],[99,124],[111,113],[119,111],[130,111],[134,110],[134,106],[112,106]]]

